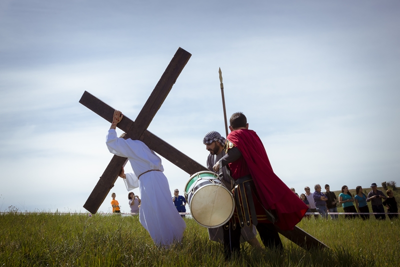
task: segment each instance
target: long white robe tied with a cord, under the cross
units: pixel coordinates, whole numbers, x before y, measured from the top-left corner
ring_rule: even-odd
[[[126,173],[123,180],[128,191],[139,187],[139,221],[154,243],[169,246],[174,241],[180,241],[186,224],[171,200],[161,159],[139,140],[118,138],[114,129],[108,130],[106,145],[112,154],[129,159],[134,173]],[[153,169],[160,171],[144,173]]]

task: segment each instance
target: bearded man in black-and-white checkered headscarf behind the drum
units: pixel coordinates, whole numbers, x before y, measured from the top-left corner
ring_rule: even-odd
[[[205,145],[205,149],[209,151],[207,158],[207,169],[214,172],[212,166],[214,166],[214,164],[225,155],[225,151],[223,150],[225,138],[223,138],[218,132],[211,131],[204,136],[203,144]],[[219,170],[219,173],[221,171],[223,173],[221,181],[226,188],[231,191],[233,188],[233,182],[228,177],[229,170],[226,169],[226,167],[222,167],[222,169]],[[254,225],[251,225],[251,227],[245,226],[241,228],[240,242],[248,242],[253,247],[261,247],[257,238],[255,237],[256,235],[257,232]],[[208,228],[208,236],[211,241],[222,243],[223,226],[217,228]]]

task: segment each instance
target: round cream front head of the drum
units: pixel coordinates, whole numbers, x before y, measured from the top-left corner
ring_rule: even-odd
[[[225,224],[232,216],[234,202],[232,194],[220,184],[207,184],[195,191],[190,201],[190,211],[198,224],[216,228]]]

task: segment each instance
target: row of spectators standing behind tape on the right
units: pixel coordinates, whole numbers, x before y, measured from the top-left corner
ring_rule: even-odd
[[[321,192],[321,186],[319,184],[314,185],[314,192],[311,193],[310,188],[308,186],[304,187],[305,194],[298,194],[294,190],[294,188],[290,188],[290,190],[296,194],[308,207],[307,212],[317,212],[319,215],[314,214],[315,218],[321,216],[322,218],[327,219],[329,213],[337,212],[337,204],[341,204],[345,213],[344,218],[356,218],[358,215],[363,220],[369,219],[369,214],[354,214],[354,213],[369,213],[369,208],[367,202],[371,202],[372,212],[380,213],[374,214],[376,219],[384,220],[386,218],[384,207],[387,209],[387,215],[390,219],[397,218],[397,202],[393,197],[392,190],[386,190],[386,195],[377,190],[376,183],[371,184],[371,191],[365,195],[362,191],[361,186],[357,186],[355,188],[355,195],[353,196],[346,185],[341,187],[341,193],[336,197],[335,193],[330,191],[330,187],[328,184],[325,184],[325,192]],[[382,201],[382,199],[384,201]],[[332,220],[338,219],[337,214],[329,214]],[[309,214],[306,214],[305,217],[310,218]]]

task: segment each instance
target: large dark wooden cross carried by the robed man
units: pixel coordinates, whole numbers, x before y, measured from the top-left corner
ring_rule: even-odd
[[[188,52],[179,48],[162,74],[150,97],[141,109],[139,115],[137,115],[136,120],[133,122],[123,115],[123,118],[117,124],[117,127],[126,133],[125,138],[142,141],[148,146],[148,148],[175,164],[183,171],[188,174],[194,174],[199,171],[208,171],[208,169],[146,130],[190,56],[191,55]],[[114,108],[111,108],[90,93],[85,91],[80,98],[79,103],[108,122],[112,122]],[[124,157],[116,155],[112,157],[93,191],[90,193],[90,196],[83,205],[85,209],[91,213],[97,212],[97,209],[113,187],[118,174],[126,161],[127,158]],[[276,229],[280,234],[305,249],[327,247],[324,243],[320,242],[297,226],[290,231],[282,231],[277,226]]]

